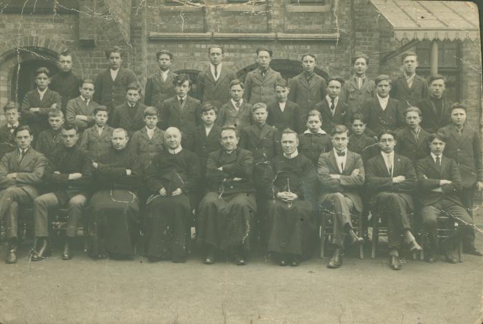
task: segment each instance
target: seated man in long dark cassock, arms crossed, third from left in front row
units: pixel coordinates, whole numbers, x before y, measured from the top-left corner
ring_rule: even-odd
[[[90,199],[89,254],[94,258],[132,256],[141,184],[137,156],[126,149],[128,132],[115,128],[112,148],[92,161],[95,194]]]

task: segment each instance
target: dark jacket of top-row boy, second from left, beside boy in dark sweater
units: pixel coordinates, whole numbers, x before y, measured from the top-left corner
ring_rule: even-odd
[[[96,92],[92,99],[100,105],[105,105],[111,112],[115,107],[126,101],[126,88],[129,83],[136,81],[134,72],[123,67],[119,68],[116,79],[112,81],[110,68],[107,68],[97,75]]]

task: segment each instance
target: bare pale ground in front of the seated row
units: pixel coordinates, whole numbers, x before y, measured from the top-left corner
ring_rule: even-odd
[[[244,267],[204,265],[197,256],[185,264],[93,261],[80,246],[70,261],[57,247],[35,263],[28,249],[22,245],[15,265],[0,262],[1,324],[482,323],[483,258],[469,254],[458,265],[406,260],[396,272],[384,247],[376,259],[368,249],[363,260],[353,251],[337,270],[317,256],[299,267],[261,256]]]

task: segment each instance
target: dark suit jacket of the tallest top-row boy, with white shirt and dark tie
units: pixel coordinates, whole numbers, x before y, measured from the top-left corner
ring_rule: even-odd
[[[201,103],[211,103],[216,108],[230,100],[230,82],[237,79],[237,75],[228,69],[225,64],[221,65],[218,80],[215,81],[210,67],[198,75],[198,94]]]

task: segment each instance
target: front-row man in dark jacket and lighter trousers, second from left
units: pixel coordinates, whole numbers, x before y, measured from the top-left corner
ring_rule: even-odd
[[[48,249],[48,212],[51,208],[67,207],[67,233],[62,259],[72,259],[70,247],[77,234],[77,222],[87,201],[90,163],[87,152],[77,141],[79,129],[75,124],[64,124],[61,130],[62,145],[52,154],[43,179],[47,194],[34,199],[34,230],[37,248],[32,253],[32,261],[41,261],[49,254]]]

